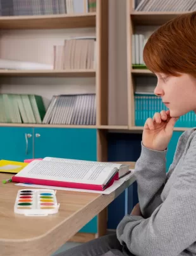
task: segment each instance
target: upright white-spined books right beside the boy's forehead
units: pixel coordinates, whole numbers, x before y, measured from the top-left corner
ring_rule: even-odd
[[[146,68],[143,59],[143,51],[147,39],[142,34],[132,35],[132,67],[134,68]]]

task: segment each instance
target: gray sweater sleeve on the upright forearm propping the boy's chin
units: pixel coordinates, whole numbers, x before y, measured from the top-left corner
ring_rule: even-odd
[[[166,182],[166,151],[153,151],[142,144],[135,165],[138,199],[142,215],[147,218],[161,205],[161,192]]]

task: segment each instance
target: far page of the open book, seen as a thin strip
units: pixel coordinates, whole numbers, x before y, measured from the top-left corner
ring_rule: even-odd
[[[80,165],[99,165],[99,166],[107,166],[107,167],[116,167],[119,168],[121,164],[119,163],[107,163],[107,162],[96,162],[96,161],[85,161],[85,160],[75,160],[75,159],[66,159],[66,158],[50,158],[46,157],[43,159],[44,161],[57,161],[64,163],[78,163]]]

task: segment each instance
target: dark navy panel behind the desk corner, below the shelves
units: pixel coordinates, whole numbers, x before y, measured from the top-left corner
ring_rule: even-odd
[[[133,133],[108,133],[108,161],[137,161],[141,152],[142,134]],[[118,196],[108,207],[108,229],[116,229],[118,223],[126,214],[132,211],[138,202],[137,184],[128,188],[128,196],[125,192]],[[128,207],[125,207],[125,198],[128,199]],[[129,203],[130,201],[130,203]]]

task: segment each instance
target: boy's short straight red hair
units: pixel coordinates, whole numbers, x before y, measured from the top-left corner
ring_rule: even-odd
[[[145,44],[144,62],[154,73],[196,77],[196,11],[159,27]]]

